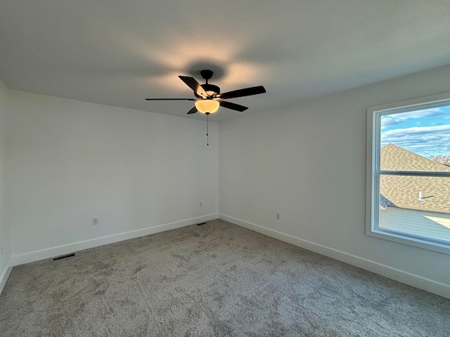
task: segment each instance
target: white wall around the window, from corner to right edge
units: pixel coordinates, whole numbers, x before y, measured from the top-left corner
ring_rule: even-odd
[[[450,66],[219,124],[221,218],[450,297],[449,255],[364,234],[366,107],[446,91]]]

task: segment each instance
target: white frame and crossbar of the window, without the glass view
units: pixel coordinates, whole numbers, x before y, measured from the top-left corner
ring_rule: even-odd
[[[412,112],[450,105],[450,93],[441,93],[397,103],[387,103],[367,108],[367,168],[366,168],[366,234],[379,239],[387,239],[401,244],[450,254],[450,243],[416,234],[406,234],[379,227],[380,215],[380,176],[444,176],[450,172],[430,171],[382,171],[380,170],[381,117],[401,112]]]

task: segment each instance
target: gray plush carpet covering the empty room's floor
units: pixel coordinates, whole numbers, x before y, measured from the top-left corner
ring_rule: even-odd
[[[222,220],[14,267],[0,336],[449,336],[450,300]]]

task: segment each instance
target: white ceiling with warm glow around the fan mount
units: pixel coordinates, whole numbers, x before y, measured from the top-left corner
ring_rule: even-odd
[[[221,91],[265,86],[211,121],[450,64],[449,0],[4,0],[9,89],[186,118],[177,75],[208,65]]]

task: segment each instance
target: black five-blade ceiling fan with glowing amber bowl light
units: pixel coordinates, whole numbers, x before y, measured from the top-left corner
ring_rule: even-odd
[[[203,114],[212,114],[219,109],[219,106],[226,107],[227,109],[243,112],[248,109],[243,105],[227,102],[229,98],[238,98],[243,96],[258,95],[259,93],[265,93],[264,86],[252,86],[251,88],[243,88],[235,91],[229,91],[228,93],[220,93],[220,88],[209,84],[208,80],[212,77],[212,70],[202,70],[200,75],[205,79],[205,84],[199,84],[193,77],[179,76],[181,81],[194,91],[196,98],[146,98],[146,100],[194,100],[195,107],[188,111],[188,114],[195,114],[195,112],[201,112]]]

